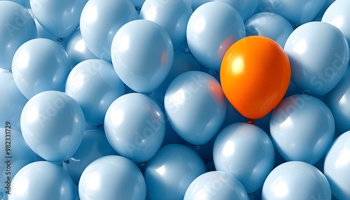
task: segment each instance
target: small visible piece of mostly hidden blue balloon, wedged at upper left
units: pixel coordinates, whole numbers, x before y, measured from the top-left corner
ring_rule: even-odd
[[[79,62],[83,62],[87,59],[97,59],[97,56],[87,48],[81,36],[80,29],[76,30],[71,38],[69,38],[69,41],[67,41],[66,52],[71,66],[76,66]]]

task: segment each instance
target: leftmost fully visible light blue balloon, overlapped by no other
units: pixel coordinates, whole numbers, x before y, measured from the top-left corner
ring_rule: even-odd
[[[20,123],[29,148],[51,162],[71,158],[83,140],[83,111],[63,92],[45,91],[29,99]]]

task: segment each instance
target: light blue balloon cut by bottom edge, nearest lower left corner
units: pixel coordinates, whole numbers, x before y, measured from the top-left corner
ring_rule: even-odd
[[[10,199],[73,200],[74,184],[60,166],[47,161],[32,162],[13,178]]]

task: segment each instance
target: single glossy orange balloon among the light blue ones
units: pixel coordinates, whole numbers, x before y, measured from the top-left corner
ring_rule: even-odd
[[[270,38],[248,36],[234,43],[223,57],[221,86],[241,115],[259,119],[282,100],[290,83],[290,62]]]

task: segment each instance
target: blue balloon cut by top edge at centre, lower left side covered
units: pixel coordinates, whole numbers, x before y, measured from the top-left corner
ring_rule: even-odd
[[[186,43],[186,28],[192,13],[188,0],[146,0],[140,19],[151,20],[165,29],[176,50]]]

